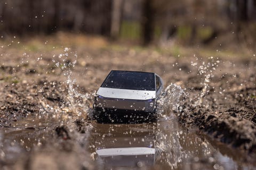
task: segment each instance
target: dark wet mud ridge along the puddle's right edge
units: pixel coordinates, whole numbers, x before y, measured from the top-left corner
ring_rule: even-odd
[[[255,154],[256,126],[252,121],[199,106],[181,112],[179,121],[187,127],[197,127],[231,147]]]

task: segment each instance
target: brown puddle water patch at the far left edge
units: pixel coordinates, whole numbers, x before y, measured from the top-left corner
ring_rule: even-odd
[[[31,150],[51,141],[54,127],[66,122],[55,115],[29,115],[0,128],[0,165],[12,166]]]

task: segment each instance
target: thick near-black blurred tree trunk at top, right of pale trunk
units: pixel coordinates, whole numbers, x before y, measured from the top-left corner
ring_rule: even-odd
[[[142,35],[143,35],[143,45],[148,45],[149,43],[151,43],[154,35],[153,0],[143,1]]]

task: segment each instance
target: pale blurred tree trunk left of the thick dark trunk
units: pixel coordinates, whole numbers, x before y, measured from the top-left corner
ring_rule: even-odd
[[[113,0],[112,2],[110,35],[114,39],[116,39],[119,35],[120,25],[122,21],[123,6],[124,6],[123,0]]]

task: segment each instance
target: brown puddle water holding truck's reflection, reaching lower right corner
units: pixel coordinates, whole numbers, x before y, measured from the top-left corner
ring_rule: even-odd
[[[188,131],[175,120],[93,124],[89,151],[102,169],[254,169],[239,151]]]

